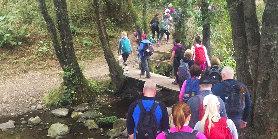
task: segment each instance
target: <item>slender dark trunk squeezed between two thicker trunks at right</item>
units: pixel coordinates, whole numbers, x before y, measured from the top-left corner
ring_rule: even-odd
[[[257,72],[258,72],[258,59],[259,59],[259,45],[260,45],[260,33],[259,33],[259,23],[256,14],[256,3],[255,0],[244,0],[243,1],[243,9],[244,9],[244,23],[245,23],[245,31],[248,42],[248,65],[252,78],[252,86],[250,87],[251,92],[251,112],[250,112],[250,121],[248,123],[250,126],[253,123],[253,111],[254,111],[254,103],[256,98],[256,84],[257,84]]]

